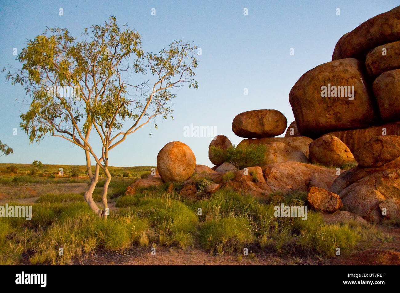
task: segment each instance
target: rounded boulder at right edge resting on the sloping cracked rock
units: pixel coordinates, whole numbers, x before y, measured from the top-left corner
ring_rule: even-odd
[[[400,136],[376,136],[355,152],[361,167],[380,167],[400,156]]]

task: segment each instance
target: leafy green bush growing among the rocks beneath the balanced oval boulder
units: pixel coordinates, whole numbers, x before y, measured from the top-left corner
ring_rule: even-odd
[[[264,159],[267,147],[262,144],[247,144],[236,147],[228,147],[226,150],[211,146],[210,150],[216,157],[222,158],[225,162],[235,165],[238,169],[260,165]]]

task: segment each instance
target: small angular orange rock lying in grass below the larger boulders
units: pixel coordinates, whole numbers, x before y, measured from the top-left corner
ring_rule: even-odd
[[[308,189],[307,202],[314,209],[330,213],[341,209],[343,206],[339,195],[315,186]]]

